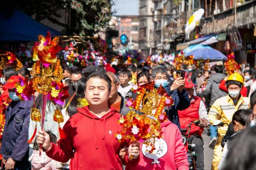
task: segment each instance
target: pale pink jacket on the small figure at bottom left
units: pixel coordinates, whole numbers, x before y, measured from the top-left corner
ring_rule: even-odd
[[[44,151],[39,157],[39,150],[33,150],[29,160],[31,160],[32,170],[56,170],[57,162],[49,158]]]

